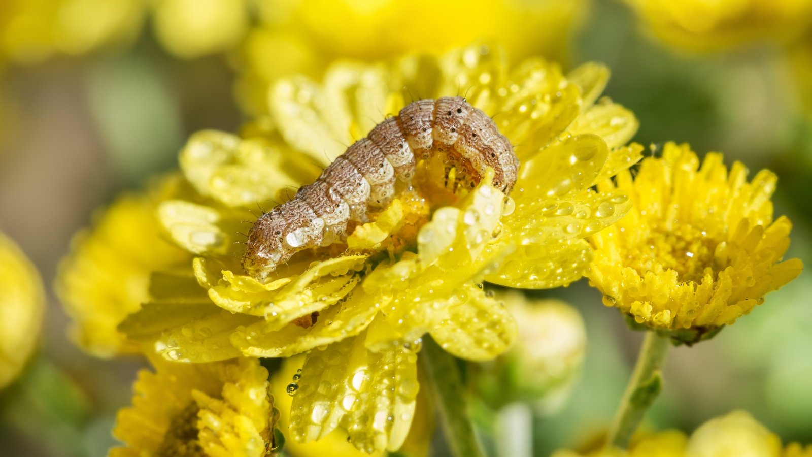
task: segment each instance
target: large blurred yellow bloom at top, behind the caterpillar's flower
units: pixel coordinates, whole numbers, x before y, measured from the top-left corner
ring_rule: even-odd
[[[512,63],[530,55],[565,59],[585,0],[261,0],[260,25],[240,46],[238,94],[253,113],[280,77],[316,75],[335,59],[441,54],[478,39],[499,41]]]

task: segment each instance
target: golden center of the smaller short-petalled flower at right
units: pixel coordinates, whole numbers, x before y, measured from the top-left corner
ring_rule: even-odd
[[[690,224],[679,224],[670,229],[654,228],[646,242],[630,246],[629,266],[642,276],[646,272],[674,270],[680,282],[701,282],[710,269],[716,276],[714,252],[718,243],[706,232]]]

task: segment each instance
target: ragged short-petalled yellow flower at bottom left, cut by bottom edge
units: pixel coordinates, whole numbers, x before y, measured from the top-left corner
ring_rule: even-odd
[[[273,448],[268,370],[257,359],[156,368],[140,372],[133,406],[119,411],[113,434],[127,446],[111,457],[261,457]]]

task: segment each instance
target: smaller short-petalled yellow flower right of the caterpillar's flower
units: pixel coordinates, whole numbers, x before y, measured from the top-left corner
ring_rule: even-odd
[[[634,180],[620,172],[605,185],[628,192],[634,207],[590,237],[590,284],[603,302],[690,344],[798,276],[801,260],[780,262],[792,224],[773,220],[775,174],[762,170],[749,183],[746,174],[738,162],[728,172],[719,154],[700,167],[689,146],[668,143]]]

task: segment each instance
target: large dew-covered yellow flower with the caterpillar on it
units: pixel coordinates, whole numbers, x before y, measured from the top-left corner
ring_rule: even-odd
[[[204,132],[180,156],[196,198],[162,202],[159,219],[197,255],[188,279],[205,294],[178,292],[175,276],[120,329],[168,359],[283,357],[309,351],[293,401],[292,437],[324,437],[342,424],[359,448],[394,450],[408,433],[418,391],[417,350],[430,333],[466,359],[491,359],[516,336],[481,281],[523,288],[568,285],[592,259],[584,238],[631,207],[622,191],[592,186],[628,168],[639,146],[623,107],[597,105],[608,72],[587,64],[569,76],[541,59],[509,68],[499,49],[472,46],[442,58],[339,63],[318,85],[279,82],[269,118],[244,137]],[[418,165],[417,189],[356,228],[347,246],[303,251],[266,282],[240,267],[248,208],[283,200],[313,180],[353,138],[425,97],[467,88],[469,102],[501,113],[500,131],[520,145],[512,198],[486,175],[467,192],[442,158]],[[191,287],[191,286],[190,286]],[[185,295],[184,295],[185,294]]]

